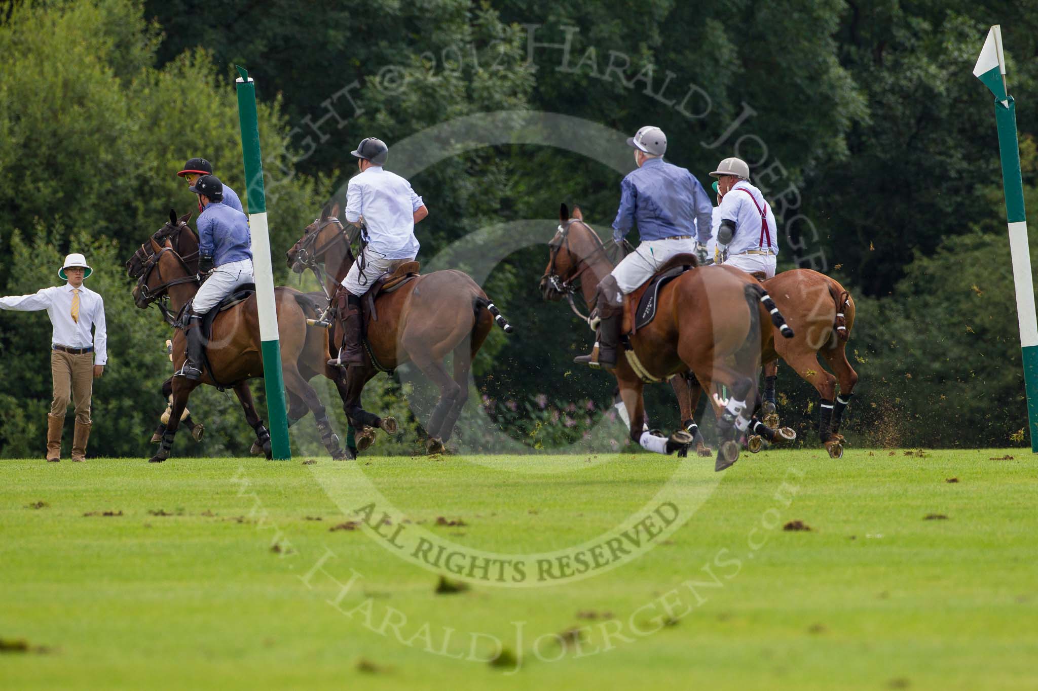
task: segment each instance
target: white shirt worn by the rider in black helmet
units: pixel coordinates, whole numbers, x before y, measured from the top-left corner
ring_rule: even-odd
[[[350,178],[346,192],[346,220],[361,215],[367,226],[367,247],[384,259],[412,259],[418,254],[414,212],[425,202],[411,183],[395,173],[371,166]]]

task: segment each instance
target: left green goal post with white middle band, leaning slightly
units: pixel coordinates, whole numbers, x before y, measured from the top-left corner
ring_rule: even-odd
[[[289,445],[289,418],[284,409],[284,379],[281,375],[281,343],[277,332],[277,307],[274,301],[274,267],[270,258],[267,232],[267,199],[263,188],[263,159],[260,155],[260,120],[256,117],[255,82],[244,67],[235,80],[238,90],[238,118],[242,128],[242,156],[249,201],[249,228],[252,235],[252,266],[260,311],[260,344],[263,351],[264,383],[267,390],[267,416],[273,458],[292,458]]]

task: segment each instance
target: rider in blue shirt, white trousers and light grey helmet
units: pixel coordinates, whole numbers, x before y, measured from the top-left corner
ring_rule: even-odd
[[[638,167],[620,183],[620,209],[612,222],[612,237],[622,246],[632,223],[636,223],[641,241],[598,284],[597,359],[594,350],[591,355],[574,359],[608,369],[617,367],[624,295],[634,292],[671,257],[693,253],[693,232],[706,244],[713,209],[695,176],[663,161],[666,136],[662,129],[641,127],[627,144],[634,148]]]

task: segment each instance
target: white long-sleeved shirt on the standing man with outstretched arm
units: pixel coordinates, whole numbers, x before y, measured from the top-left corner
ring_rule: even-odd
[[[0,310],[35,312],[47,310],[54,326],[51,345],[66,348],[93,346],[93,364],[108,363],[108,332],[105,326],[105,300],[85,285],[79,287],[79,322],[72,318],[73,287],[71,284],[42,288],[28,295],[0,297]],[[93,334],[90,334],[90,327]]]

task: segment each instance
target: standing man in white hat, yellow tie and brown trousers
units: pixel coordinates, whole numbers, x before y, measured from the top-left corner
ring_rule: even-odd
[[[54,399],[47,416],[47,460],[52,462],[61,460],[61,431],[70,398],[76,404],[72,460],[85,459],[92,424],[93,379],[102,375],[108,362],[105,300],[83,285],[83,280],[92,272],[83,255],[71,254],[58,271],[58,276],[67,281],[65,285],[43,288],[28,295],[0,297],[0,310],[47,310],[54,326],[51,338]]]

